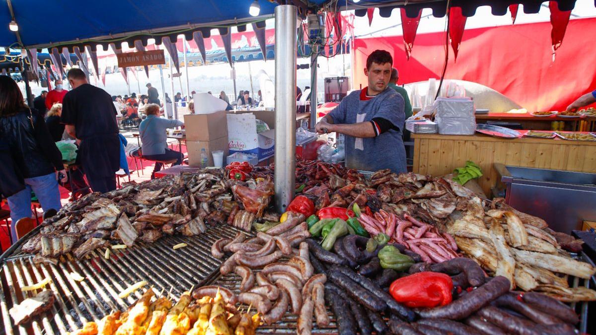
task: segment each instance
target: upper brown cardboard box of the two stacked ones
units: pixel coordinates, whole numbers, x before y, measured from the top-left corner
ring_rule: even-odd
[[[187,141],[213,141],[228,136],[226,111],[184,116]]]

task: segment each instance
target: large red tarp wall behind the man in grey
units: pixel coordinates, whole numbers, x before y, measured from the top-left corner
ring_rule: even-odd
[[[565,45],[552,63],[549,22],[468,29],[459,61],[449,60],[446,79],[480,83],[504,94],[529,111],[564,110],[580,95],[596,89],[594,56],[586,52],[586,32],[596,18],[569,21]],[[416,54],[406,61],[402,36],[355,39],[354,87],[367,86],[368,55],[385,49],[399,70],[399,84],[439,78],[445,54],[445,33],[419,33]]]

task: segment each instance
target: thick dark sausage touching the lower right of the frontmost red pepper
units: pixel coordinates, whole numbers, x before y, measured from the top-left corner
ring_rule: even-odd
[[[509,280],[502,276],[493,278],[488,283],[473,290],[460,299],[446,306],[426,308],[417,311],[423,318],[445,318],[460,320],[469,317],[474,312],[488,305],[492,300],[509,291]]]

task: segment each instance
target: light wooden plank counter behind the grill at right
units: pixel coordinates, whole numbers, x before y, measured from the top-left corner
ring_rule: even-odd
[[[493,163],[596,172],[596,142],[569,141],[560,138],[505,139],[477,135],[412,134],[416,173],[440,176],[465,165],[477,163],[483,176],[479,184],[485,194],[491,194],[498,175]]]

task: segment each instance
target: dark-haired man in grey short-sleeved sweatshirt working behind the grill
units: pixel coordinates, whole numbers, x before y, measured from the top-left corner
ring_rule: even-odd
[[[392,66],[389,52],[372,52],[364,69],[368,87],[347,95],[316,124],[319,134],[339,132],[345,135],[347,168],[407,172],[402,140],[404,102],[395,90],[387,88]]]

